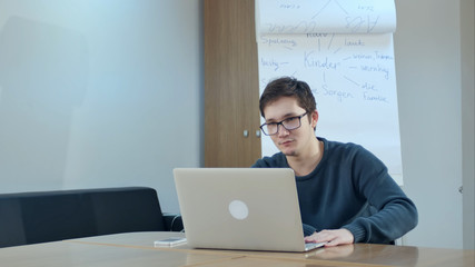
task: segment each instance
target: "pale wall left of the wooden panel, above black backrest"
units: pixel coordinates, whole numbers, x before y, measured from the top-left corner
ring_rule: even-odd
[[[200,0],[0,0],[0,192],[150,186],[201,161]]]

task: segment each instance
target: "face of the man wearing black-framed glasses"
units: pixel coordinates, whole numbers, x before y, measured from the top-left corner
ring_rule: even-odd
[[[281,97],[264,108],[266,122],[280,122],[285,119],[301,116],[306,111],[298,106],[294,97]],[[308,118],[311,118],[310,122]],[[300,127],[287,130],[281,125],[278,132],[270,136],[276,147],[286,156],[301,156],[309,149],[311,139],[315,139],[314,127],[317,123],[318,113],[307,113],[300,119]]]

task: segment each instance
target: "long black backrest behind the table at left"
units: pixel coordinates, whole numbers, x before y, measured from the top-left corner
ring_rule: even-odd
[[[157,191],[148,187],[0,195],[0,247],[160,230]]]

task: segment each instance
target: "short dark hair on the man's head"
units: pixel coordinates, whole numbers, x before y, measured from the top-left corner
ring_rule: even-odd
[[[293,77],[281,77],[267,83],[259,100],[260,115],[265,118],[264,109],[281,97],[295,97],[299,107],[306,112],[314,112],[317,109],[314,93],[305,81]]]

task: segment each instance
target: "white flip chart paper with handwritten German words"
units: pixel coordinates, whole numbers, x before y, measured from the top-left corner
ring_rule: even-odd
[[[278,77],[306,81],[317,136],[364,146],[403,185],[395,29],[392,0],[256,1],[260,93]],[[261,146],[263,156],[278,152],[267,136]]]

